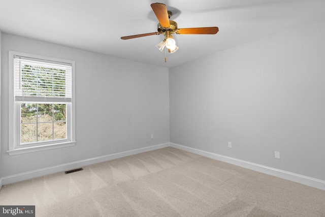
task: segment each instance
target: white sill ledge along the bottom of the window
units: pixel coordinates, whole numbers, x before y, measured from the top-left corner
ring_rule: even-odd
[[[50,144],[50,145],[42,145],[42,146],[34,146],[34,147],[26,147],[26,148],[17,148],[17,149],[13,149],[13,150],[8,150],[7,153],[11,156],[11,155],[16,155],[16,154],[50,150],[50,149],[55,149],[55,148],[70,147],[70,146],[74,146],[74,145],[76,145],[76,141],[56,143],[56,144]]]

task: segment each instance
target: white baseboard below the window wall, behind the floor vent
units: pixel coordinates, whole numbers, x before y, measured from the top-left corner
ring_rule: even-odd
[[[40,177],[40,176],[44,176],[44,175],[57,173],[57,172],[67,171],[67,170],[71,170],[71,169],[75,169],[75,168],[79,168],[79,167],[88,166],[91,164],[101,163],[101,162],[105,162],[105,161],[109,161],[109,160],[114,160],[117,158],[123,158],[126,156],[131,156],[133,154],[143,153],[146,151],[151,151],[151,150],[160,149],[160,148],[169,147],[169,146],[170,146],[170,143],[152,145],[152,146],[148,146],[148,147],[107,154],[105,156],[100,156],[100,157],[96,157],[96,158],[75,161],[75,162],[71,162],[68,164],[61,164],[61,165],[57,165],[57,166],[53,166],[53,167],[47,167],[47,168],[42,168],[42,169],[33,170],[33,171],[29,171],[29,172],[5,176],[5,177],[0,178],[0,189],[5,184],[10,184],[10,183],[18,182],[18,181],[23,181],[23,180],[27,180],[27,179],[31,179],[31,178],[36,178],[36,177]]]

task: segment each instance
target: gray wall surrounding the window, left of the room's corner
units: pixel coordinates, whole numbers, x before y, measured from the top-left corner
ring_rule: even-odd
[[[9,50],[76,61],[76,146],[8,155]],[[2,177],[169,142],[168,76],[168,68],[3,33]]]

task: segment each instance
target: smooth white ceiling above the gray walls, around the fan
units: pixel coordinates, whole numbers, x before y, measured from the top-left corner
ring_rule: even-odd
[[[151,3],[164,3],[179,28],[218,26],[216,35],[173,35],[179,49],[160,52]],[[325,0],[0,0],[4,33],[163,67],[173,67],[325,17]],[[302,31],[304,29],[301,29]]]

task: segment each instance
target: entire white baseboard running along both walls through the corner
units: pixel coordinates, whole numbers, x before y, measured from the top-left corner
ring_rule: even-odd
[[[71,162],[68,164],[61,164],[61,165],[57,165],[57,166],[53,166],[53,167],[47,167],[47,168],[42,168],[39,170],[33,170],[33,171],[29,171],[29,172],[5,176],[5,177],[0,178],[0,189],[5,184],[10,184],[10,183],[18,182],[18,181],[23,181],[23,180],[27,180],[27,179],[31,179],[31,178],[36,178],[36,177],[40,177],[40,176],[44,176],[44,175],[57,173],[57,172],[67,171],[67,170],[71,170],[71,169],[75,169],[75,168],[79,168],[79,167],[88,166],[91,164],[101,163],[101,162],[105,162],[105,161],[109,161],[109,160],[114,160],[117,158],[123,158],[126,156],[131,156],[133,154],[143,153],[146,151],[156,150],[156,149],[169,147],[169,146],[178,148],[181,150],[189,151],[192,153],[196,153],[196,154],[199,154],[199,155],[207,157],[207,158],[211,158],[211,159],[226,162],[229,164],[237,165],[237,166],[240,166],[243,168],[251,169],[251,170],[254,170],[257,172],[262,172],[262,173],[265,173],[268,175],[273,175],[273,176],[283,178],[286,180],[305,184],[310,187],[325,191],[325,181],[324,180],[315,179],[312,177],[308,177],[308,176],[304,176],[304,175],[300,175],[300,174],[296,174],[296,173],[291,173],[291,172],[287,172],[287,171],[283,171],[283,170],[279,170],[279,169],[275,169],[272,167],[267,167],[267,166],[263,166],[263,165],[259,165],[259,164],[254,164],[251,162],[242,161],[242,160],[227,157],[227,156],[222,156],[220,154],[216,154],[213,152],[208,152],[208,151],[204,151],[204,150],[200,150],[200,149],[196,149],[196,148],[191,148],[191,147],[187,147],[187,146],[183,146],[183,145],[179,145],[179,144],[175,144],[175,143],[163,143],[163,144],[153,145],[153,146],[149,146],[149,147],[137,148],[137,149],[128,150],[128,151],[121,151],[121,152],[112,153],[112,154],[108,154],[108,155],[100,156],[100,157],[96,157],[96,158],[90,158],[90,159],[86,159],[86,160]]]

